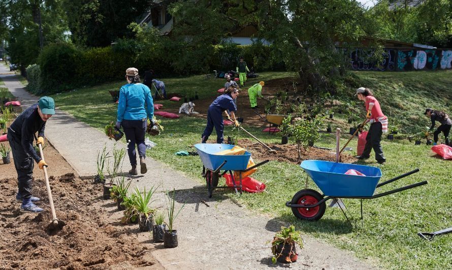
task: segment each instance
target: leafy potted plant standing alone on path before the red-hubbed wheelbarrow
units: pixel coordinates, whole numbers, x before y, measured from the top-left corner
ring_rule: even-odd
[[[303,239],[300,236],[300,231],[295,230],[294,225],[290,225],[289,227],[282,226],[273,237],[272,262],[296,262],[298,259],[298,253],[295,249],[296,243],[300,248],[303,248]]]

